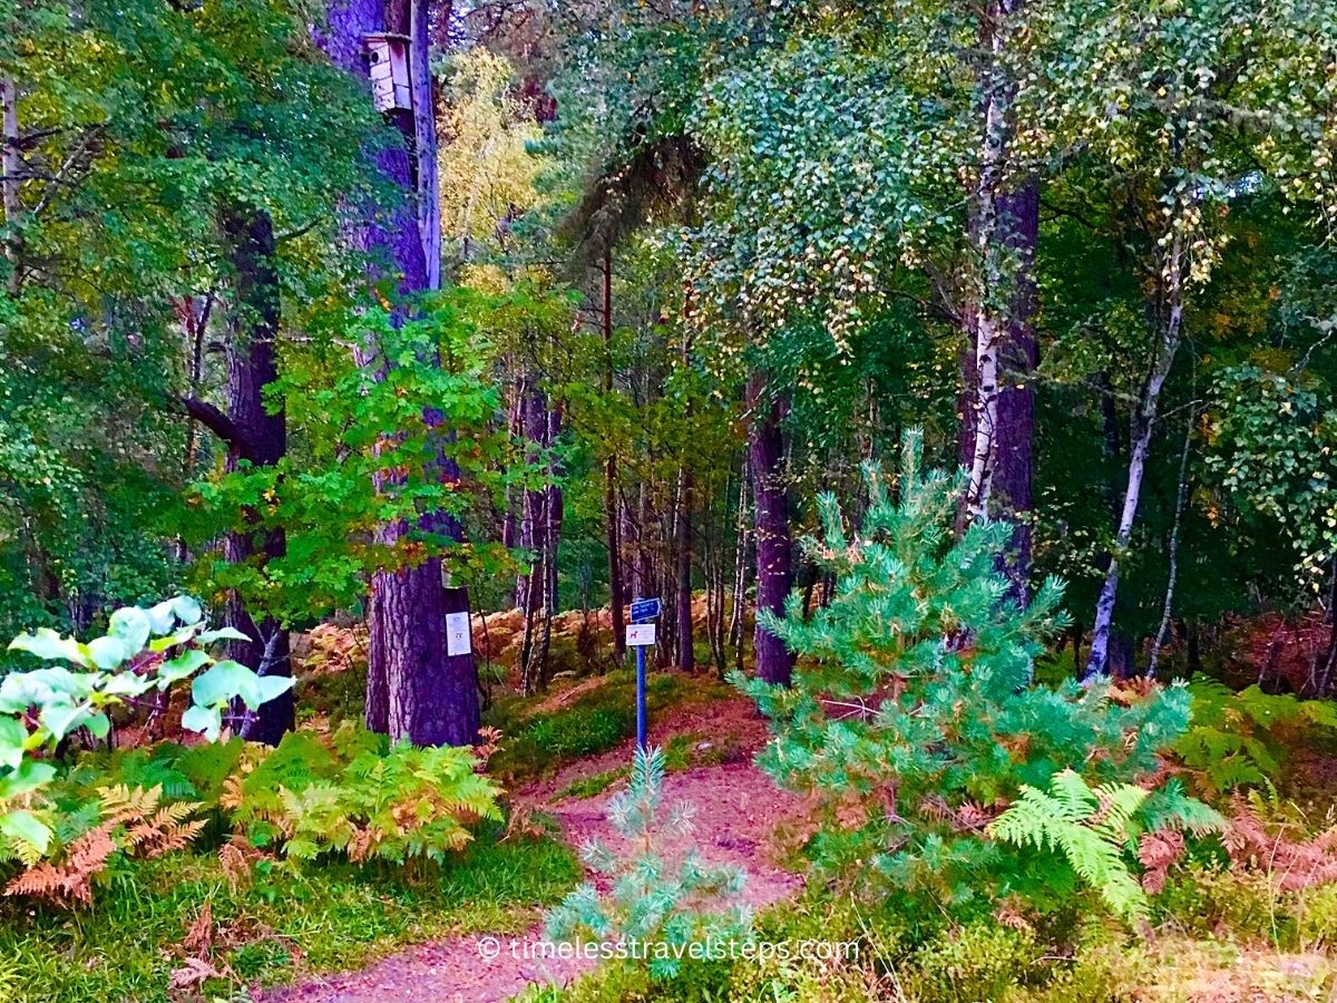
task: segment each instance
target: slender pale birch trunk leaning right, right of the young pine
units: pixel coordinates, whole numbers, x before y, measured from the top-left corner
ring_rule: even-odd
[[[1119,524],[1110,554],[1110,567],[1100,586],[1095,603],[1095,619],[1091,626],[1091,654],[1087,658],[1086,677],[1092,679],[1110,670],[1110,630],[1114,623],[1114,606],[1119,595],[1119,558],[1132,539],[1132,526],[1142,499],[1142,477],[1146,473],[1147,453],[1151,448],[1151,435],[1155,431],[1157,409],[1161,404],[1161,389],[1165,386],[1170,368],[1174,365],[1183,329],[1183,238],[1175,235],[1165,269],[1166,313],[1162,325],[1161,344],[1151,362],[1151,372],[1143,384],[1138,407],[1132,415],[1132,449],[1128,455],[1128,479],[1123,492],[1123,506],[1119,511]]]

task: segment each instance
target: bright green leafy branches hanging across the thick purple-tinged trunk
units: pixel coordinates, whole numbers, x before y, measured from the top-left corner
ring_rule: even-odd
[[[487,368],[505,318],[540,309],[564,308],[528,289],[451,289],[412,320],[388,305],[317,310],[313,344],[289,354],[270,391],[285,397],[303,448],[273,465],[213,472],[185,492],[176,516],[178,531],[202,546],[221,527],[282,528],[286,552],[234,564],[206,548],[193,568],[198,586],[218,596],[235,590],[253,615],[305,625],[356,608],[373,571],[443,556],[455,580],[473,584],[509,570],[479,514],[533,475],[493,423],[501,401]],[[354,362],[349,342],[394,365],[378,378]],[[443,457],[448,480],[436,472]],[[400,523],[406,531],[393,539],[376,532]]]

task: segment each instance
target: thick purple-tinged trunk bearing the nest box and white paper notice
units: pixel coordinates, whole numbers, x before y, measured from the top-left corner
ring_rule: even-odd
[[[409,27],[421,28],[421,19],[416,20],[418,23]],[[368,33],[385,29],[381,0],[332,0],[328,25],[316,32],[316,40],[336,66],[370,91],[364,39]],[[422,43],[416,41],[413,48],[421,51]],[[432,123],[432,115],[421,116],[424,128],[435,130]],[[421,136],[417,142],[435,146],[435,136]],[[377,152],[374,162],[385,181],[397,186],[406,198],[388,218],[378,211],[378,206],[350,206],[345,214],[345,235],[354,250],[366,251],[373,258],[378,253],[389,257],[402,293],[428,289],[431,282],[422,233],[417,213],[409,205],[414,193],[409,154],[388,147]],[[374,282],[381,277],[373,266],[369,280]],[[362,345],[354,354],[358,364],[377,378],[385,377],[389,361],[380,358],[373,345]],[[439,413],[424,412],[424,421],[437,428],[443,437],[448,436]],[[439,473],[443,481],[456,476],[444,459]],[[425,514],[420,524],[429,532],[463,539],[461,527],[440,512]],[[405,523],[386,524],[377,536],[381,543],[393,547],[409,528]],[[447,655],[445,614],[440,558],[377,571],[372,576],[368,728],[418,745],[467,745],[476,738],[477,669],[472,655],[456,659]]]

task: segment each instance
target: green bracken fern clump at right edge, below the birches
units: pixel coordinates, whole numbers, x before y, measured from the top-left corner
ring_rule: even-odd
[[[1205,794],[1271,786],[1288,749],[1318,729],[1337,732],[1337,706],[1263,693],[1258,686],[1234,691],[1205,675],[1189,683],[1193,715],[1174,752]]]

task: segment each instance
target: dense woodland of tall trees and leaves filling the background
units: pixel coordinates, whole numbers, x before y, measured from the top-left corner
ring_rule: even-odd
[[[11,5],[0,627],[190,587],[269,637],[441,562],[536,638],[662,595],[722,671],[921,427],[1075,662],[1266,617],[1325,690],[1321,4],[336,7]]]

